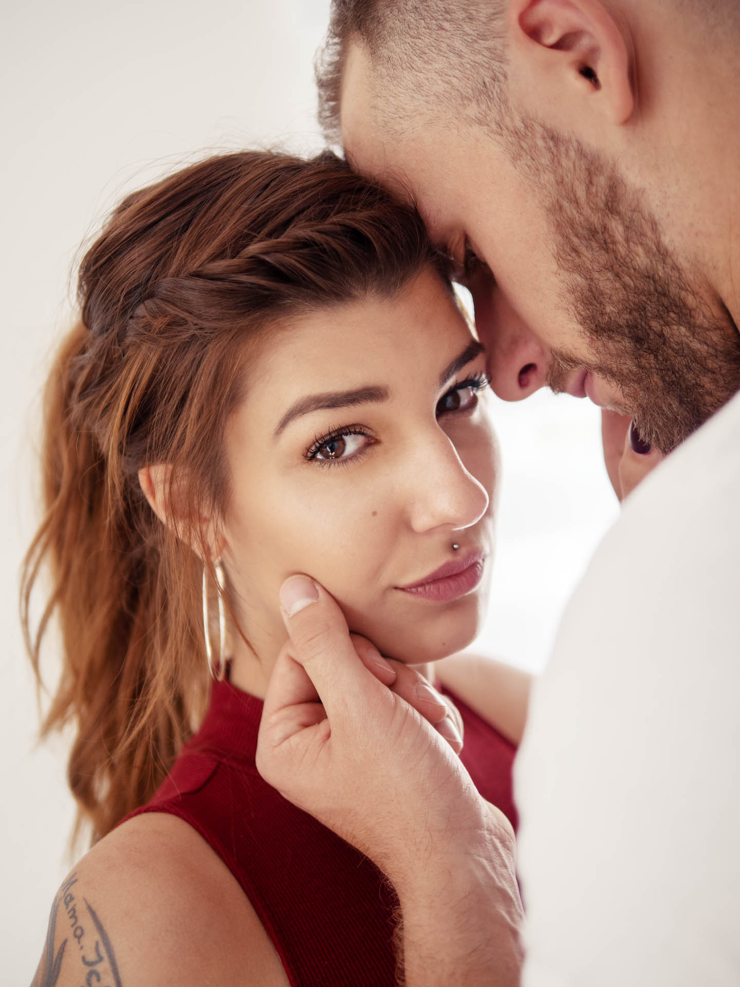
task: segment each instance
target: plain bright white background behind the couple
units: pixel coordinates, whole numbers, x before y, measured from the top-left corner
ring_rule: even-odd
[[[17,602],[37,520],[38,394],[69,323],[70,271],[125,190],[192,152],[319,148],[312,58],[328,6],[26,0],[3,14],[0,954],[9,985],[30,982],[70,864],[65,743],[34,749],[36,699]],[[592,406],[539,394],[524,405],[496,401],[493,415],[504,483],[481,647],[540,668],[617,503]]]

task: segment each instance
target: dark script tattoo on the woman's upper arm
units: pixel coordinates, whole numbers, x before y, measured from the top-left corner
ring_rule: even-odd
[[[87,909],[87,915],[83,912],[82,907],[78,911],[77,899],[72,890],[76,883],[77,875],[72,873],[62,884],[59,894],[51,906],[43,956],[38,964],[32,987],[54,987],[59,979],[62,959],[67,943],[70,942],[70,938],[67,937],[54,954],[56,918],[57,914],[61,914],[62,907],[69,921],[72,943],[77,944],[82,960],[82,987],[122,987],[111,939],[87,898],[82,899],[85,909]],[[92,921],[92,928],[88,923],[87,916]],[[70,944],[70,949],[74,950],[72,944]]]

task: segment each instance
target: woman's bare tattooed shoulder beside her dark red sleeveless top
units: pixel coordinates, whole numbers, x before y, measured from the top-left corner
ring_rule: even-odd
[[[285,987],[282,963],[226,865],[182,819],[136,816],[63,881],[33,987]]]

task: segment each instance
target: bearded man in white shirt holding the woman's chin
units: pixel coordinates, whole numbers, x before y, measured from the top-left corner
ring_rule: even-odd
[[[497,394],[585,395],[612,449],[631,420],[626,490],[671,454],[535,690],[516,777],[527,987],[740,982],[738,42],[735,0],[333,5],[325,124],[417,201]],[[300,576],[283,593],[261,770],[394,881],[409,985],[519,982],[511,834],[371,680],[327,594]],[[306,673],[321,729],[301,721]]]

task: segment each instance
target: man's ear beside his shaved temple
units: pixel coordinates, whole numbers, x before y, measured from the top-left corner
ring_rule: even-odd
[[[593,114],[618,125],[629,120],[629,41],[599,0],[510,0],[508,16],[511,55],[538,118],[566,114],[575,132]]]

